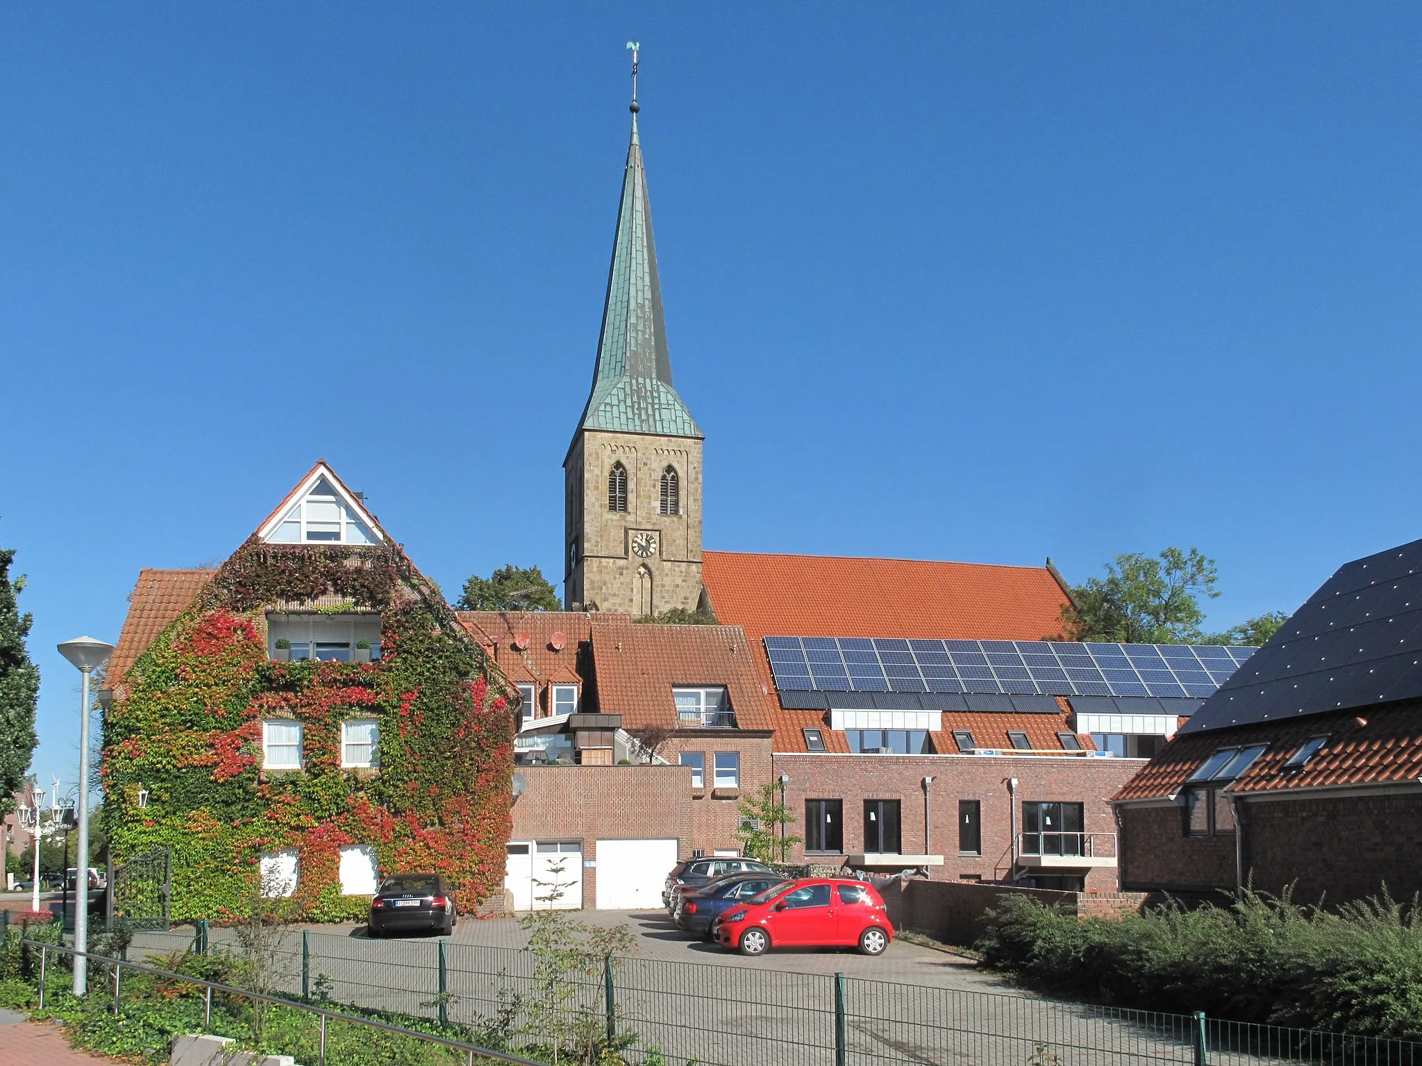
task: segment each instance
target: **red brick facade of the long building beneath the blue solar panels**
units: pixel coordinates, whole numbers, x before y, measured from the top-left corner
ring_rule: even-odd
[[[803,836],[806,799],[839,799],[845,812],[845,853],[863,851],[863,802],[897,799],[902,812],[903,851],[920,854],[923,839],[924,776],[930,786],[930,854],[941,854],[944,866],[931,868],[933,880],[960,880],[975,874],[983,881],[1007,876],[1010,866],[1010,809],[1005,779],[1017,777],[1017,831],[1021,833],[1021,804],[1064,800],[1082,803],[1088,833],[1115,833],[1116,823],[1108,797],[1143,765],[1142,759],[1082,759],[1051,756],[983,755],[776,755],[772,770],[788,773],[786,802],[796,823],[791,831]],[[958,856],[958,800],[981,803],[983,854]],[[795,850],[795,857],[803,849]],[[839,861],[842,856],[811,857]],[[1054,873],[1054,871],[1044,871]],[[1096,867],[1086,876],[1088,891],[1113,891],[1116,871]]]

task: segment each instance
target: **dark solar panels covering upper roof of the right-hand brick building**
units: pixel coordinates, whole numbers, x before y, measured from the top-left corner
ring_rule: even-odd
[[[1182,732],[1422,696],[1422,540],[1344,566]]]

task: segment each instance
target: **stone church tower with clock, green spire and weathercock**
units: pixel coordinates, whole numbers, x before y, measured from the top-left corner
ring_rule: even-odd
[[[704,438],[671,385],[636,77],[633,51],[631,145],[597,367],[563,461],[563,590],[572,610],[643,615],[701,604]]]

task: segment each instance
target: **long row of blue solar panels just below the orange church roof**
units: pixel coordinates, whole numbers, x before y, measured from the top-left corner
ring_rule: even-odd
[[[779,691],[1005,692],[1203,699],[1254,648],[766,637]]]

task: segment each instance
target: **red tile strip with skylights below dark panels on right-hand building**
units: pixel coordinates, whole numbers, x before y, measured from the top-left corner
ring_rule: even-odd
[[[1284,763],[1311,736],[1330,741],[1298,770]],[[1422,702],[1308,715],[1283,722],[1260,722],[1233,729],[1209,729],[1175,736],[1116,793],[1118,800],[1162,799],[1176,795],[1186,779],[1220,748],[1268,743],[1230,790],[1290,792],[1349,785],[1413,783],[1422,779]]]

